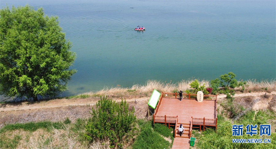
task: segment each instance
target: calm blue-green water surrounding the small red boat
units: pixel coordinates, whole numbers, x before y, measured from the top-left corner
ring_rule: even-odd
[[[276,78],[275,1],[5,1],[59,17],[78,72],[62,96],[149,79]],[[134,31],[138,25],[145,31]]]

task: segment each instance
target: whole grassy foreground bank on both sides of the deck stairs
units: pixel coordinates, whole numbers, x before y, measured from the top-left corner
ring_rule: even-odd
[[[232,121],[226,116],[218,115],[218,129],[207,129],[199,132],[194,129],[192,137],[196,138],[193,148],[200,149],[270,149],[276,148],[276,114],[270,110],[248,111],[239,120]],[[0,129],[0,148],[72,148],[72,149],[110,149],[108,140],[97,140],[89,143],[84,139],[85,125],[90,119],[78,119],[75,123],[63,122],[36,122],[25,124],[6,125]],[[138,119],[135,122],[139,131],[132,139],[131,144],[125,145],[125,149],[169,149],[172,147],[174,128],[156,123],[152,120]],[[246,126],[247,124],[270,124],[271,136],[246,135],[232,136],[232,125]],[[33,125],[33,127],[30,127]],[[258,129],[259,132],[259,129]],[[232,139],[271,139],[270,144],[246,144],[232,143]]]

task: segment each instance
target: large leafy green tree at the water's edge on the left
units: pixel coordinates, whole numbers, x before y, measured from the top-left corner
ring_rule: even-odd
[[[70,49],[57,16],[29,5],[1,9],[0,94],[36,101],[65,91],[76,73]]]

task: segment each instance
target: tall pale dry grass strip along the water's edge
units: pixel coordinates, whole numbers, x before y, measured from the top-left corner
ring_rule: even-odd
[[[124,98],[139,98],[151,96],[153,89],[158,90],[159,92],[173,93],[178,92],[179,90],[191,90],[190,84],[194,79],[182,80],[180,82],[161,82],[156,80],[148,80],[145,85],[133,85],[131,88],[121,88],[121,87],[105,87],[104,89],[98,92],[88,92],[75,96],[69,96],[71,98],[88,98],[88,97],[100,97],[100,96],[110,96],[110,97],[124,97]],[[205,84],[206,87],[210,86],[209,80],[200,80],[200,85]],[[236,88],[237,91],[240,91],[240,88]],[[256,80],[247,80],[245,90],[243,93],[253,93],[253,92],[272,92],[276,90],[276,79],[271,80],[262,80],[257,82]]]

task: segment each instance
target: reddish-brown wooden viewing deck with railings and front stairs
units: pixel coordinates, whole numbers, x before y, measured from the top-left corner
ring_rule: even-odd
[[[182,94],[183,99],[180,101],[178,93],[162,92],[159,98],[153,114],[153,122],[165,123],[169,127],[175,126],[174,137],[179,139],[174,141],[172,149],[189,148],[192,128],[199,128],[200,131],[201,127],[204,131],[206,126],[217,129],[217,95],[204,95],[202,102],[197,102],[196,96]],[[180,124],[184,128],[181,137],[178,132]]]

